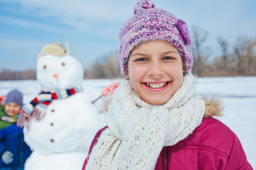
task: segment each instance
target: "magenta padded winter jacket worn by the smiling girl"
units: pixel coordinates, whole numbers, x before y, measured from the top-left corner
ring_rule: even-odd
[[[106,128],[97,132],[90,152]],[[89,156],[82,169],[85,169],[88,159]],[[161,150],[155,169],[245,170],[252,169],[252,166],[233,131],[215,118],[203,118],[201,125],[186,139]]]

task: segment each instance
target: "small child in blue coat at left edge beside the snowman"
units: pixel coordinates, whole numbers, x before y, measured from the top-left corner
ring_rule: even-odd
[[[23,129],[16,125],[18,113],[23,105],[21,91],[10,91],[0,106],[0,169],[24,169],[31,149],[23,141]]]

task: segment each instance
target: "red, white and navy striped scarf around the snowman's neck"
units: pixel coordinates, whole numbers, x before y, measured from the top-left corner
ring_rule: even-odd
[[[49,106],[52,100],[68,98],[73,94],[82,91],[81,86],[76,86],[72,89],[65,89],[62,91],[43,91],[36,98],[34,98],[30,103],[23,106],[18,117],[17,125],[23,127],[24,123],[29,123],[31,117],[36,118],[36,120],[41,120],[43,118],[43,113],[46,112],[46,108]]]

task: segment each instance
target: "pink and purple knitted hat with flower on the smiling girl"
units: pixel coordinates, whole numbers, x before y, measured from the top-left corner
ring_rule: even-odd
[[[147,40],[167,40],[181,54],[185,72],[190,72],[193,55],[190,35],[186,23],[171,13],[156,8],[149,0],[139,1],[132,18],[124,23],[119,34],[119,65],[125,76],[129,55],[139,43]]]

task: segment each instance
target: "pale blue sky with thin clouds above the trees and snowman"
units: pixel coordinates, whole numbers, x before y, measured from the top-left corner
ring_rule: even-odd
[[[43,45],[67,41],[84,68],[119,48],[119,29],[137,0],[0,0],[0,70],[36,69]],[[155,0],[154,4],[230,47],[239,36],[256,38],[255,0]]]

